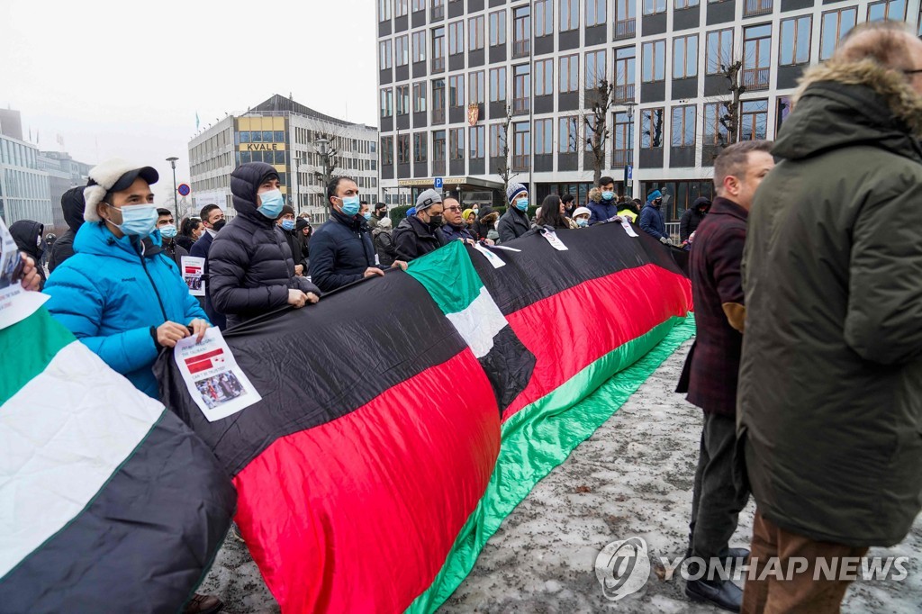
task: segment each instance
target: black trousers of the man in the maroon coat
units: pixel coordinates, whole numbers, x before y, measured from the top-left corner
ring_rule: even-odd
[[[704,414],[691,499],[689,552],[705,561],[727,555],[739,512],[749,501],[749,490],[739,490],[733,480],[736,442],[735,418]]]

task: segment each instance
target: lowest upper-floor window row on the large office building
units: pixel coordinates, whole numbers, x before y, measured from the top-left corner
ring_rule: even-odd
[[[769,100],[743,100],[739,108],[736,127],[741,140],[768,138]],[[777,99],[776,118],[780,126],[790,109],[790,99]],[[635,119],[627,112],[615,112],[608,126],[609,138],[602,148],[610,150],[612,167],[630,163],[634,125],[640,129],[642,149],[695,148],[722,146],[729,142],[727,107],[724,102],[702,105],[679,105],[670,108],[642,109]],[[488,135],[489,128],[489,135]],[[467,149],[465,138],[467,136]],[[489,136],[489,140],[488,137]],[[532,148],[534,136],[534,148]],[[512,139],[508,143],[507,139]],[[609,141],[610,140],[610,148]],[[526,170],[531,155],[574,154],[580,150],[592,151],[591,124],[579,116],[538,119],[534,124],[514,122],[508,134],[502,124],[458,127],[448,130],[417,132],[408,135],[383,136],[381,139],[382,165],[443,162],[445,159],[503,158],[512,154],[514,170]],[[466,153],[467,151],[467,153]]]

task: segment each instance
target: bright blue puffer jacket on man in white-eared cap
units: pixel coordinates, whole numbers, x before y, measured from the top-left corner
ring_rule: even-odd
[[[112,369],[158,398],[151,367],[160,348],[151,327],[207,319],[160,250],[160,231],[140,242],[116,238],[103,222],[87,222],[77,231],[74,252],[48,278],[45,306]]]

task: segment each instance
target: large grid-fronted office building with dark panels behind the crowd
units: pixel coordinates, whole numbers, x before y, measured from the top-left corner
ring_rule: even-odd
[[[470,202],[511,168],[536,202],[585,202],[601,86],[603,174],[633,195],[665,189],[678,218],[712,195],[722,145],[774,138],[804,68],[884,18],[917,25],[919,2],[378,0],[382,187],[415,194],[446,177]],[[744,88],[739,105],[731,84]]]

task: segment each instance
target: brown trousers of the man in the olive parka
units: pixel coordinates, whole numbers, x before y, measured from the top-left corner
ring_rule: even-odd
[[[750,564],[754,568],[746,576],[743,590],[743,614],[780,614],[782,612],[810,612],[810,614],[835,614],[850,580],[826,579],[817,574],[818,560],[833,558],[858,558],[867,548],[852,548],[841,544],[815,541],[810,537],[789,533],[774,525],[756,510],[752,523]],[[771,570],[762,580],[762,572],[769,559],[777,557],[782,571],[790,569],[791,558],[807,561],[807,568],[792,579],[779,579]],[[794,565],[797,568],[796,565]],[[817,579],[819,578],[819,579]]]

